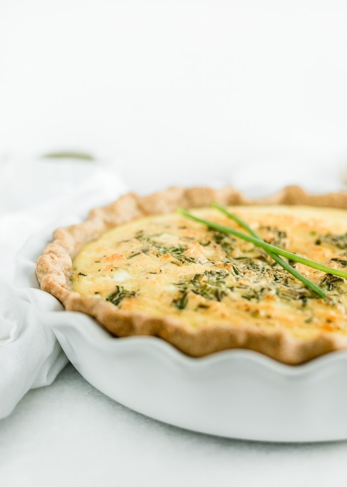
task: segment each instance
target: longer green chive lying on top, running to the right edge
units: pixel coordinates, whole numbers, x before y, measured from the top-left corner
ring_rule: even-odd
[[[177,211],[181,215],[186,216],[187,218],[190,218],[191,220],[194,220],[198,223],[202,223],[204,225],[207,225],[209,228],[213,228],[213,229],[218,230],[220,232],[231,234],[237,238],[241,238],[242,240],[245,240],[246,242],[250,242],[257,247],[260,247],[260,248],[266,250],[267,252],[272,252],[273,254],[280,255],[282,257],[286,257],[287,259],[289,259],[293,262],[299,262],[300,264],[311,267],[312,269],[316,269],[317,271],[322,271],[322,272],[326,272],[328,274],[338,275],[339,277],[343,277],[344,279],[347,279],[347,272],[346,271],[342,271],[340,269],[333,269],[329,266],[325,266],[324,264],[320,264],[318,262],[312,261],[311,259],[301,257],[299,255],[293,254],[292,252],[289,252],[287,250],[276,247],[275,245],[268,244],[264,240],[262,240],[260,238],[256,238],[253,235],[247,235],[246,233],[242,233],[238,230],[234,230],[233,228],[230,228],[228,226],[221,225],[219,223],[215,223],[213,221],[206,220],[204,218],[200,218],[199,216],[195,216],[192,213],[188,212],[184,208],[179,207],[179,208],[177,208]]]

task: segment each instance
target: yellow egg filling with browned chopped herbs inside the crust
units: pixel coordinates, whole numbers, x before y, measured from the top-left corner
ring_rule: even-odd
[[[282,249],[347,270],[347,212],[304,206],[234,206],[260,237]],[[213,208],[205,219],[239,230]],[[168,317],[188,330],[286,329],[299,339],[347,333],[347,281],[298,263],[321,298],[262,249],[178,213],[123,223],[85,244],[70,285],[81,296],[132,315]]]

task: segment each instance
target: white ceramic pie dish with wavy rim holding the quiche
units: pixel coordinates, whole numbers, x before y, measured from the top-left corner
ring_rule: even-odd
[[[347,438],[347,352],[287,366],[247,350],[195,359],[156,337],[112,337],[39,289],[35,262],[58,223],[19,252],[16,291],[97,389],[139,413],[201,433],[280,442]]]

